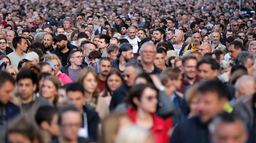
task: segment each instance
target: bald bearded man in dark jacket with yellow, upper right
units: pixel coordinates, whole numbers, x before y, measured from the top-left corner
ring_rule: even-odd
[[[185,48],[184,48],[184,52],[186,52],[187,50],[191,50],[191,51],[197,51],[200,47],[200,45],[203,43],[202,41],[202,38],[201,38],[201,34],[199,33],[195,33],[193,35],[193,41],[191,44],[187,45]],[[183,52],[183,53],[184,53]],[[180,53],[183,55],[183,53]]]

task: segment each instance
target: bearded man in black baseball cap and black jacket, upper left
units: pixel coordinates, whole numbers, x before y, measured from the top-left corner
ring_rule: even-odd
[[[59,34],[55,39],[53,39],[53,42],[56,42],[57,46],[56,49],[52,51],[52,54],[56,54],[61,61],[62,66],[66,66],[70,53],[70,47],[67,46],[67,36],[64,34]]]

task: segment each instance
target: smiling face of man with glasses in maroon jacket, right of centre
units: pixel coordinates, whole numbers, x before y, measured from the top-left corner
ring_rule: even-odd
[[[197,75],[197,60],[186,60],[184,63],[184,73],[188,79],[194,79]]]

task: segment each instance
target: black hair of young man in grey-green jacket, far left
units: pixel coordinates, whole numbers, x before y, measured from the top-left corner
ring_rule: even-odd
[[[18,74],[17,74],[17,78],[16,81],[19,82],[22,79],[31,79],[33,84],[37,83],[37,75],[30,69],[24,69],[21,70]]]

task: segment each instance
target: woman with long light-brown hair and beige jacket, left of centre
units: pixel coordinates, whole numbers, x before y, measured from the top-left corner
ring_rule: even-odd
[[[85,105],[98,112],[103,119],[109,114],[109,107],[106,101],[99,96],[98,74],[94,69],[84,68],[77,77],[77,81],[84,86],[86,103]]]

